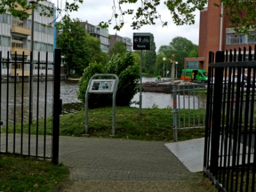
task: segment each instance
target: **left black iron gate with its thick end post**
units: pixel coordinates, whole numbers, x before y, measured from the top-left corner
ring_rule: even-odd
[[[60,129],[60,49],[54,62],[14,60],[0,52],[0,152],[51,159],[58,164]],[[32,70],[33,69],[33,70]]]

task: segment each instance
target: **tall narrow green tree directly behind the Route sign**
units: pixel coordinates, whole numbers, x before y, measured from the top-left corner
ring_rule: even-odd
[[[150,34],[150,50],[145,51],[144,58],[144,71],[149,74],[154,73],[154,65],[156,63],[156,44],[154,41],[154,35]]]

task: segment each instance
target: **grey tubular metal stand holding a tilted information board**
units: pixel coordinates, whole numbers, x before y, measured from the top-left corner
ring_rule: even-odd
[[[114,77],[115,79],[97,79],[96,77]],[[97,74],[91,77],[85,93],[85,136],[88,136],[88,95],[93,94],[113,94],[113,117],[112,117],[112,135],[115,136],[115,116],[116,116],[116,91],[119,78],[115,74]]]

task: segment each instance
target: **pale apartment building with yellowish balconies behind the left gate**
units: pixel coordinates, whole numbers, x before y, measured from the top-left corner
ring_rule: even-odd
[[[54,33],[55,15],[44,17],[40,15],[40,13],[42,13],[44,7],[53,8],[54,4],[49,1],[43,1],[40,4],[41,6],[37,6],[33,15],[33,58],[34,60],[37,60],[38,52],[40,51],[40,61],[46,61],[46,52],[48,52],[48,61],[51,62],[53,61],[53,51],[56,47],[56,35]],[[17,9],[20,8],[21,7],[18,6]],[[3,61],[7,60],[8,52],[10,53],[10,60],[15,60],[15,52],[17,52],[17,60],[22,61],[22,53],[24,52],[25,61],[30,61],[31,20],[32,15],[26,19],[15,18],[9,13],[0,15],[0,50],[2,51]],[[2,68],[6,68],[6,66],[3,64]],[[19,68],[21,68],[20,64],[18,64],[18,70]],[[25,70],[28,70],[29,65],[24,66],[24,68]],[[28,76],[28,72],[26,72],[25,75]]]

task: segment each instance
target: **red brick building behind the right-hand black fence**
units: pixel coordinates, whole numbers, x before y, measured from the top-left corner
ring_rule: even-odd
[[[255,38],[248,35],[237,35],[234,28],[230,28],[230,20],[227,16],[220,17],[223,10],[220,0],[209,0],[208,6],[200,12],[199,42],[198,42],[198,62],[197,67],[207,70],[209,63],[209,51],[226,51],[234,48],[243,49],[251,45],[254,53]],[[256,31],[250,31],[256,35]],[[243,52],[242,52],[243,53]],[[202,60],[203,59],[203,60]],[[195,58],[185,58],[185,68],[195,68]]]

